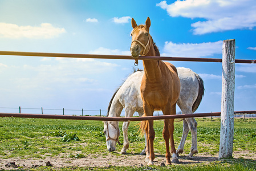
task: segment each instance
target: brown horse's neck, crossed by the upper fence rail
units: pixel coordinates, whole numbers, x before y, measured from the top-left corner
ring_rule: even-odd
[[[149,52],[145,56],[156,56],[156,52],[154,50],[153,44],[151,44],[151,48]],[[159,60],[143,60],[144,73],[146,78],[150,81],[156,81],[160,78],[161,71],[159,68]]]

